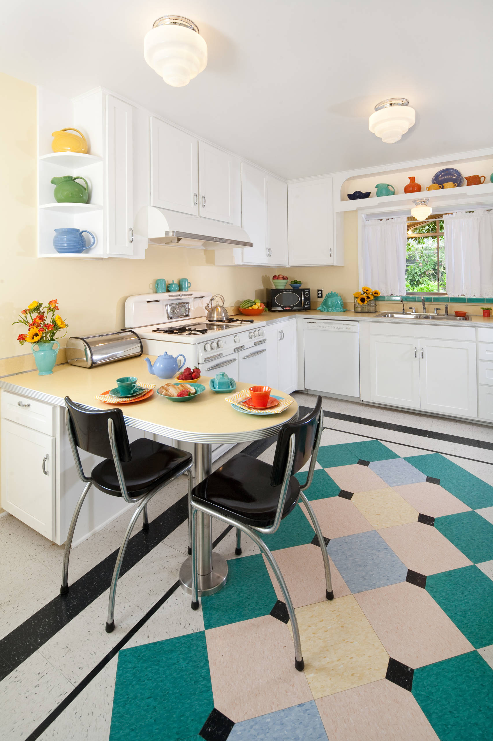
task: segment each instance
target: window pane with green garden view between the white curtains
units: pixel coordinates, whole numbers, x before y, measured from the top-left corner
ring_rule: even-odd
[[[443,216],[408,222],[406,293],[446,293]]]

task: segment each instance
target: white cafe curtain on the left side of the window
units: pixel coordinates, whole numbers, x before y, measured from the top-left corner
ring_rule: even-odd
[[[363,285],[383,296],[405,294],[406,242],[406,216],[363,222]]]

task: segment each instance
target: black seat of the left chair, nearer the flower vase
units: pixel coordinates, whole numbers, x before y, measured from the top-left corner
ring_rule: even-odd
[[[149,494],[161,482],[166,484],[168,479],[185,471],[192,462],[192,456],[187,451],[178,451],[170,445],[141,437],[130,443],[132,459],[121,462],[127,491],[132,497],[141,497]],[[100,491],[113,496],[121,496],[118,477],[113,460],[106,459],[98,463],[91,472],[93,484]]]

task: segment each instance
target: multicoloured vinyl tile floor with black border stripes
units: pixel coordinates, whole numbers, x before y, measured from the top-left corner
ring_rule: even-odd
[[[294,396],[307,407],[315,401]],[[292,596],[303,671],[295,670],[292,625],[272,569],[246,536],[235,556],[235,531],[217,520],[227,585],[190,609],[177,582],[187,553],[184,479],[150,507],[150,532],[162,538],[151,547],[134,536],[141,551],[118,584],[113,634],[104,631],[104,579],[67,616],[58,607],[63,548],[1,516],[2,738],[491,737],[493,449],[481,445],[491,445],[492,428],[339,399],[323,399],[323,408],[306,496],[334,599],[326,599],[321,548],[303,505],[266,537]],[[255,443],[250,454],[272,462],[274,449]],[[304,482],[306,467],[297,476]],[[129,518],[73,549],[70,581],[101,577]]]

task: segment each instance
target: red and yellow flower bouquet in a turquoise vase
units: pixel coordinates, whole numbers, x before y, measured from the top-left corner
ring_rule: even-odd
[[[62,329],[65,331],[61,336],[67,334],[67,324],[60,314],[56,313],[59,310],[56,299],[51,299],[46,306],[43,306],[41,301],[33,301],[27,309],[21,310],[19,319],[13,322],[26,325],[28,328],[27,333],[19,334],[17,340],[21,345],[30,342],[40,376],[49,376],[53,373],[56,353],[60,348],[58,340],[55,339],[56,335]]]

